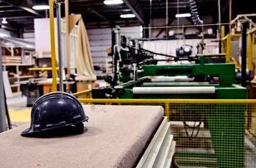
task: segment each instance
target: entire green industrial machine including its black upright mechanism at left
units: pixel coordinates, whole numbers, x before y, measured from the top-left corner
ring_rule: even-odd
[[[93,98],[246,99],[246,89],[235,85],[234,64],[223,63],[225,54],[175,57],[155,53],[143,49],[139,41],[121,36],[117,27],[112,32],[109,55],[113,55],[113,73],[106,80],[111,87],[93,89]],[[154,55],[168,59],[156,60]],[[157,65],[159,61],[188,61],[190,64]]]

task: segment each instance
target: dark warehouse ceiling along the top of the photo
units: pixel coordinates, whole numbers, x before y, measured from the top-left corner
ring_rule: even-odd
[[[6,18],[8,24],[2,24],[3,29],[25,31],[33,29],[33,19],[46,17],[46,11],[35,11],[32,6],[35,3],[48,3],[46,0],[0,0],[0,18]],[[82,14],[87,27],[110,27],[119,25],[147,25],[150,18],[166,17],[166,1],[164,0],[123,0],[123,4],[105,5],[103,0],[69,0],[70,14]],[[168,18],[172,19],[179,13],[188,13],[188,0],[167,0]],[[200,16],[213,16],[213,22],[218,20],[218,0],[196,0]],[[179,5],[178,5],[179,4]],[[237,14],[255,13],[256,1],[233,0],[232,18]],[[150,12],[150,9],[152,12]],[[228,22],[229,0],[221,1],[222,22]],[[62,5],[62,16],[64,16]],[[133,13],[135,18],[120,18],[120,14]],[[151,14],[150,14],[151,13]],[[254,19],[256,20],[256,19]]]

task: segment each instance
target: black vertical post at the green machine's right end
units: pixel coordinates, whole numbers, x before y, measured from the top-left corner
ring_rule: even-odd
[[[242,65],[241,65],[241,71],[242,71],[242,87],[246,87],[246,42],[247,42],[247,25],[246,23],[242,23]]]

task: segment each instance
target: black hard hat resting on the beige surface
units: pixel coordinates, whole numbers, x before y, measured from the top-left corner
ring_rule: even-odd
[[[21,134],[32,136],[35,133],[65,126],[76,126],[78,132],[82,133],[82,123],[88,119],[76,97],[66,92],[52,92],[35,101],[31,109],[30,128]]]

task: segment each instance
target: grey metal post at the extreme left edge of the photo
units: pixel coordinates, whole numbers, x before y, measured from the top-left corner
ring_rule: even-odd
[[[0,38],[2,44],[2,38]],[[0,46],[0,132],[7,130],[5,120],[5,95],[4,95],[4,81],[3,81],[3,65],[2,65],[2,47]]]

